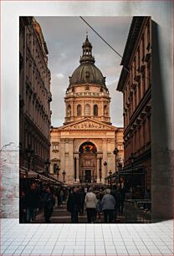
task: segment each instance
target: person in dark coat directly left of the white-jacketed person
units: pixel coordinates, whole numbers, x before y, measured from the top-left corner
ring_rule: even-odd
[[[81,206],[81,198],[77,187],[73,187],[73,192],[69,194],[67,211],[71,212],[71,223],[79,223],[78,214]]]

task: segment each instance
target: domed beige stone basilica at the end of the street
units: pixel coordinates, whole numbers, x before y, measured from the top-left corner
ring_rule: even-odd
[[[104,183],[123,161],[123,128],[110,123],[110,94],[86,36],[79,67],[69,77],[64,125],[52,127],[50,172],[67,184]],[[115,147],[119,148],[115,157]]]

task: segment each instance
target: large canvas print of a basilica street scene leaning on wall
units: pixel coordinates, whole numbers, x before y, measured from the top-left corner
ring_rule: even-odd
[[[151,222],[151,17],[20,17],[20,223]]]

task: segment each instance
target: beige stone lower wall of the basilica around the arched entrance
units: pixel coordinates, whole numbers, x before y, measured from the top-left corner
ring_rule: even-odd
[[[64,128],[54,128],[54,130],[51,131],[51,145],[53,146],[56,142],[59,142],[59,151],[51,151],[50,159],[53,160],[54,158],[57,158],[60,160],[60,181],[63,181],[62,172],[65,171],[65,182],[74,183],[74,157],[79,158],[79,146],[86,141],[95,144],[97,148],[97,158],[102,158],[102,182],[105,182],[104,178],[108,175],[109,171],[115,172],[115,155],[113,154],[113,151],[115,150],[116,128],[114,129],[114,126],[111,127],[113,130],[109,131],[71,131],[70,128],[69,131],[64,131]],[[121,137],[121,132],[119,136]],[[107,161],[108,163],[107,170],[105,170],[105,166],[103,165],[104,161]],[[51,164],[50,172],[52,173],[53,167],[54,161]],[[96,166],[96,173],[99,182],[99,161]]]

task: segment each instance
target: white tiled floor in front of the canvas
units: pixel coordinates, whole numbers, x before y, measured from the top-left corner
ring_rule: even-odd
[[[1,219],[1,255],[173,255],[173,221],[19,224]]]

